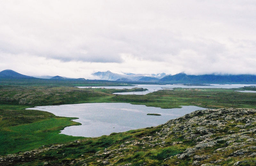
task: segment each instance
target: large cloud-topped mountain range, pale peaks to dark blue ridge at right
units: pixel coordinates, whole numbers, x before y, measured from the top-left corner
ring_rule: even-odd
[[[92,73],[100,79],[122,81],[122,82],[155,82],[155,83],[245,83],[255,84],[256,75],[186,75],[179,73],[176,75],[166,75],[165,73],[155,75],[143,74],[116,74],[110,71]]]

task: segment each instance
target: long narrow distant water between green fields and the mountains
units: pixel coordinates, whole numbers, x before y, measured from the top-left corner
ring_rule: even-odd
[[[138,84],[135,86],[77,86],[78,88],[106,88],[106,89],[132,89],[132,88],[144,88],[148,91],[142,92],[120,92],[113,94],[121,95],[145,95],[154,91],[172,88],[241,88],[244,86],[256,86],[255,84],[205,84],[205,85],[182,85],[182,84],[166,84],[166,85],[150,85],[150,84]]]

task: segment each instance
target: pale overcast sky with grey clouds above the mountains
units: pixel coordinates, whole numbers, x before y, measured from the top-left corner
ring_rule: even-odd
[[[0,0],[0,71],[256,74],[255,0]]]

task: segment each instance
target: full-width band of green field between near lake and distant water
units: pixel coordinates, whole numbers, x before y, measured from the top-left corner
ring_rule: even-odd
[[[114,92],[142,91],[133,89],[90,89],[52,86],[0,87],[0,104],[44,106],[75,103],[126,102],[146,106],[177,108],[194,105],[207,108],[241,107],[253,108],[256,93],[235,90],[255,90],[255,87],[236,89],[183,89],[161,90],[147,95],[114,95]],[[144,89],[145,91],[146,89]]]

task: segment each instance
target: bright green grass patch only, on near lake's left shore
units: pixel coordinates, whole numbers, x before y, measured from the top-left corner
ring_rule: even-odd
[[[25,120],[25,124],[12,124],[13,126],[1,127],[0,155],[27,151],[43,145],[66,143],[83,138],[59,134],[60,130],[63,130],[66,126],[79,125],[79,123],[70,121],[72,119],[75,118],[52,117],[44,118],[33,123]]]

